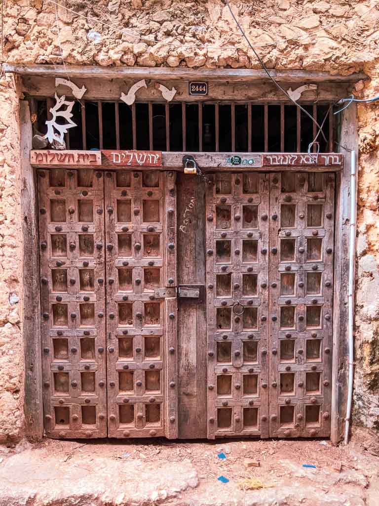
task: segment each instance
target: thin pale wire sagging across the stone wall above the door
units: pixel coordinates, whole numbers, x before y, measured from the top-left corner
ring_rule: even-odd
[[[179,40],[176,41],[176,44],[167,42],[167,41],[162,40],[162,39],[156,39],[156,40],[154,40],[152,38],[144,37],[142,35],[136,35],[132,31],[127,31],[127,29],[125,29],[125,28],[121,28],[121,27],[118,27],[118,26],[115,26],[115,25],[112,25],[112,24],[109,24],[109,23],[105,23],[104,21],[101,21],[100,19],[91,18],[89,16],[84,16],[84,14],[80,14],[80,13],[78,13],[78,12],[72,10],[72,9],[69,9],[66,6],[60,5],[57,2],[54,2],[54,0],[47,0],[47,1],[50,4],[57,5],[58,7],[62,8],[62,9],[65,9],[66,11],[71,12],[72,14],[75,14],[76,16],[79,16],[79,17],[81,17],[83,19],[86,19],[88,21],[94,21],[96,23],[100,23],[100,24],[102,24],[104,26],[107,26],[108,28],[111,28],[112,30],[114,30],[116,32],[121,32],[124,35],[129,35],[130,37],[133,37],[133,38],[135,38],[137,40],[145,40],[147,42],[154,43],[154,44],[161,43],[161,44],[164,44],[165,46],[171,46],[171,47],[173,47],[175,49],[179,49],[179,48],[195,49],[195,50],[199,50],[199,49],[217,49],[217,50],[220,50],[220,51],[225,51],[227,49],[235,51],[236,49],[239,49],[239,48],[236,48],[234,46],[223,46],[223,47],[220,47],[220,46],[213,46],[213,45],[207,45],[207,46],[204,46],[204,45],[203,46],[201,46],[201,45],[199,45],[199,46],[187,45],[187,44],[181,44]],[[364,16],[366,16],[369,12],[371,12],[378,5],[379,5],[379,2],[376,2],[372,7],[370,7],[370,9],[368,9],[362,15],[358,14],[356,16],[352,16],[351,18],[344,19],[342,21],[336,21],[334,23],[330,23],[328,25],[325,25],[322,28],[319,28],[317,30],[314,30],[312,32],[305,33],[305,34],[302,34],[302,35],[296,35],[294,37],[276,40],[276,41],[274,41],[272,43],[260,44],[258,46],[255,46],[255,48],[256,49],[257,48],[267,48],[267,47],[271,47],[271,46],[277,46],[278,44],[283,44],[283,43],[286,43],[286,42],[290,42],[292,40],[301,40],[303,38],[311,37],[311,36],[315,35],[316,33],[325,30],[326,28],[330,28],[332,26],[338,26],[338,25],[344,24],[345,22],[352,21],[353,19],[362,19]]]

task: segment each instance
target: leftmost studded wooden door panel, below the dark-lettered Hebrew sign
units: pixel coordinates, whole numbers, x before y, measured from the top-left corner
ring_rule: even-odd
[[[38,170],[45,431],[107,435],[104,188],[92,170]]]

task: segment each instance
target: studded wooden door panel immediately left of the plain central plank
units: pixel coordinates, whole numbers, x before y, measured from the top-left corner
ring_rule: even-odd
[[[176,438],[175,174],[107,172],[105,200],[108,435]]]

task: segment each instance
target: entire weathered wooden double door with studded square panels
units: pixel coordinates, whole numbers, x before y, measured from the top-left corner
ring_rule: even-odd
[[[37,171],[46,435],[182,437],[185,361],[197,349],[207,413],[198,437],[328,436],[334,175],[198,180],[195,255],[178,255],[196,204],[183,228],[176,179]],[[178,264],[197,259],[204,286],[178,285]],[[181,304],[202,297],[204,347],[183,339]]]

